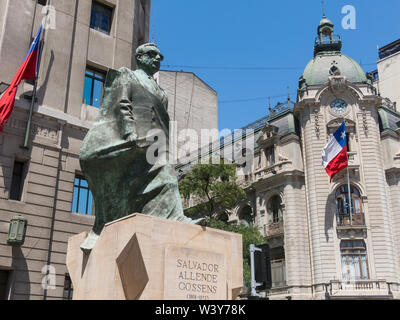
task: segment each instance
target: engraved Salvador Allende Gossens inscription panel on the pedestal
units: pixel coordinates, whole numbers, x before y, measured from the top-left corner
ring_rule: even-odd
[[[225,257],[215,252],[165,248],[164,299],[227,299]]]

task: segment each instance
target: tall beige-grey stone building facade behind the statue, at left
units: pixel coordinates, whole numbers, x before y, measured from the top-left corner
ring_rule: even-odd
[[[45,4],[0,2],[3,84],[10,83],[24,60]],[[49,4],[53,20],[43,39],[28,148],[21,148],[33,88],[27,81],[20,85],[11,118],[0,133],[0,295],[5,299],[70,296],[67,240],[90,230],[94,222],[93,215],[74,213],[81,211],[74,190],[91,201],[80,180],[81,142],[97,115],[107,70],[134,68],[136,47],[149,37],[149,0]],[[28,220],[22,247],[7,244],[10,220],[18,214]]]

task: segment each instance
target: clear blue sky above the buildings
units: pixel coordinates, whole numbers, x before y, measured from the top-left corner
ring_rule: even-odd
[[[355,30],[342,28],[345,5],[356,9]],[[377,46],[400,38],[400,0],[325,0],[325,8],[342,52],[364,71],[376,69]],[[219,129],[233,130],[265,116],[269,96],[285,101],[287,87],[296,99],[321,18],[320,0],[152,0],[150,40],[162,69],[194,72],[218,92]]]

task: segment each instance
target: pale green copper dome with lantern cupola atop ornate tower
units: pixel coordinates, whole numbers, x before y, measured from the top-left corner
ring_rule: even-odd
[[[345,76],[348,81],[367,82],[367,77],[361,66],[341,53],[342,41],[333,35],[333,24],[325,16],[318,26],[318,38],[315,40],[314,59],[306,66],[300,77],[299,88],[323,85],[333,75]]]

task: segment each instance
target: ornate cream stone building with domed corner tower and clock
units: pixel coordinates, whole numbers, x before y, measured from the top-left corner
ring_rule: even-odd
[[[326,17],[318,26],[297,102],[249,126],[254,161],[238,169],[248,198],[231,219],[257,225],[270,244],[270,299],[399,299],[400,114],[333,27]],[[330,181],[321,160],[342,121],[350,205],[347,170]]]

